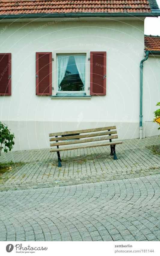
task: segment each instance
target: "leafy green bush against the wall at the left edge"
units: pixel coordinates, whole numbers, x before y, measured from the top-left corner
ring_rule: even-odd
[[[14,134],[10,133],[10,129],[5,124],[0,122],[0,155],[2,149],[5,153],[11,151],[14,145]]]

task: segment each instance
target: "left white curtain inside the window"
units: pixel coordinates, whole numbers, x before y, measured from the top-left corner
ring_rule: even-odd
[[[62,82],[67,69],[69,56],[58,55],[58,86]]]

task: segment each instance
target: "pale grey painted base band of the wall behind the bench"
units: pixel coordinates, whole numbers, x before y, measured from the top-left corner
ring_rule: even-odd
[[[49,133],[59,131],[73,131],[80,129],[98,128],[116,125],[118,140],[139,138],[139,123],[129,122],[42,122],[42,121],[2,121],[9,125],[11,133],[15,134],[13,150],[42,149],[50,147]],[[145,136],[160,134],[155,123],[143,124]]]

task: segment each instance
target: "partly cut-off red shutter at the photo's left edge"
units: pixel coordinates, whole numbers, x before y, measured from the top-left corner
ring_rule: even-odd
[[[11,53],[0,53],[0,96],[11,95]]]

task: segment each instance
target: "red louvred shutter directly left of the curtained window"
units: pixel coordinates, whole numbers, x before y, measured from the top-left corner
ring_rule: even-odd
[[[52,52],[36,52],[36,95],[52,95]]]

